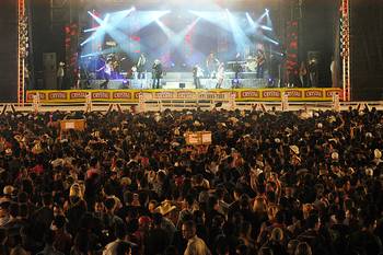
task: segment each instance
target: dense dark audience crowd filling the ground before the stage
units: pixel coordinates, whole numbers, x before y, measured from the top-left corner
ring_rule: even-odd
[[[382,135],[374,108],[4,114],[0,254],[379,255]]]

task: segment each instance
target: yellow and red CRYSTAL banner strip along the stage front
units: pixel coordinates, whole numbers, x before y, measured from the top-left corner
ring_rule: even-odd
[[[234,89],[234,90],[38,90],[27,91],[26,102],[33,103],[39,95],[40,103],[84,103],[90,93],[93,102],[127,102],[139,103],[141,93],[150,93],[158,100],[193,100],[198,95],[234,93],[236,102],[280,102],[287,94],[289,102],[332,102],[333,95],[341,96],[341,89]],[[200,98],[201,100],[201,98]],[[341,100],[341,98],[340,98]]]

